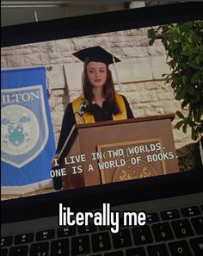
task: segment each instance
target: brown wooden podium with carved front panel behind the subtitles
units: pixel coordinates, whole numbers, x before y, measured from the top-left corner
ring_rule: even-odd
[[[178,172],[175,115],[75,125],[59,157],[63,188]]]

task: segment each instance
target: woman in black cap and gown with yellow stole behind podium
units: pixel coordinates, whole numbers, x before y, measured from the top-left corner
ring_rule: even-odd
[[[76,123],[92,123],[132,118],[126,97],[116,94],[109,64],[120,61],[102,47],[89,47],[74,53],[84,63],[83,97],[67,105],[58,140],[57,153]],[[114,58],[114,59],[113,59]]]

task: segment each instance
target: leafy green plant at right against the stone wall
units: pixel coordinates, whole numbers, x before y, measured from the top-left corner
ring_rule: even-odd
[[[175,99],[184,112],[176,111],[181,121],[175,128],[192,128],[191,137],[197,140],[203,133],[203,21],[162,25],[148,30],[149,44],[161,40],[167,52],[170,74],[163,74],[170,83]]]

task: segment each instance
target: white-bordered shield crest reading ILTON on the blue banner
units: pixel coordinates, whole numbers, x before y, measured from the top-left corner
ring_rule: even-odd
[[[46,146],[48,128],[41,85],[2,91],[2,160],[21,168]]]

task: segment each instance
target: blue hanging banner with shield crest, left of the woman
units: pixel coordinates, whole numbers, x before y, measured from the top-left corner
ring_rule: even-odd
[[[1,186],[8,194],[50,184],[55,142],[45,72],[44,67],[1,72]]]

